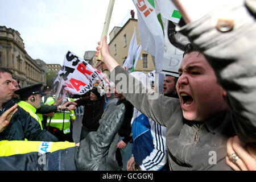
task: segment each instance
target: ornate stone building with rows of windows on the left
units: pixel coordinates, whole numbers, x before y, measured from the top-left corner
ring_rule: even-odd
[[[45,69],[28,55],[19,32],[5,26],[0,26],[0,67],[10,69],[22,87],[46,85]]]

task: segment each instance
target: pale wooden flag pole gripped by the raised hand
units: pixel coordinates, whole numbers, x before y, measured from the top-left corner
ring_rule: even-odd
[[[106,19],[105,19],[104,27],[103,27],[102,34],[101,34],[101,44],[100,44],[100,47],[102,46],[102,40],[103,40],[104,36],[108,34],[109,23],[110,23],[110,19],[111,19],[113,7],[114,7],[114,2],[115,2],[115,0],[109,0],[109,7],[108,7],[108,11],[107,11],[107,14],[106,14]],[[96,57],[96,60],[102,61],[104,63],[104,61],[101,60],[101,52]]]

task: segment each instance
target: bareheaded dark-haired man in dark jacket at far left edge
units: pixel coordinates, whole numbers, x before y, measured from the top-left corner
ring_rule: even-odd
[[[9,69],[0,67],[0,115],[15,105],[11,99],[15,90],[12,74],[13,72]],[[42,130],[39,122],[29,113],[20,106],[16,108],[18,110],[0,133],[0,140],[24,140],[27,138],[34,141],[57,141],[57,138],[48,131]]]

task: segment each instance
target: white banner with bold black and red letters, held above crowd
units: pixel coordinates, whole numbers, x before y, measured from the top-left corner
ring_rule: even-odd
[[[72,94],[82,95],[92,89],[93,84],[98,79],[103,82],[105,88],[109,85],[109,81],[103,73],[93,68],[75,53],[68,51],[64,57],[63,67],[53,85],[56,88],[56,85],[61,84],[61,90],[64,89]]]

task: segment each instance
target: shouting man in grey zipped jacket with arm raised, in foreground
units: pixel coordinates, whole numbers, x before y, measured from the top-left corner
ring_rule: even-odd
[[[184,20],[192,22],[184,12],[187,9],[179,8]],[[106,37],[102,47],[97,47],[112,81],[133,88],[122,93],[126,99],[167,127],[170,169],[230,170],[225,162],[228,138],[238,135],[243,143],[256,142],[256,43],[250,41],[256,36],[253,10],[243,1],[228,1],[180,28],[203,53],[188,47],[176,85],[179,100],[161,95],[150,100],[155,93],[143,93],[142,84],[110,56]],[[224,13],[232,19],[222,17]],[[241,42],[250,44],[241,48]],[[117,75],[121,82],[115,80]]]

